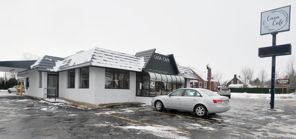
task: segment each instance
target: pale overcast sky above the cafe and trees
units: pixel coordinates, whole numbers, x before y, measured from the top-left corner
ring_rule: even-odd
[[[253,67],[256,76],[262,67],[270,74],[271,58],[258,57],[259,47],[272,45],[271,35],[260,36],[261,12],[291,5],[291,31],[279,33],[277,45],[295,47],[295,3],[1,0],[0,61],[20,60],[22,52],[64,58],[93,47],[133,55],[156,48],[174,54],[180,66],[206,70],[209,64],[224,72],[223,80],[244,66]],[[282,72],[290,57],[277,57],[276,69]]]

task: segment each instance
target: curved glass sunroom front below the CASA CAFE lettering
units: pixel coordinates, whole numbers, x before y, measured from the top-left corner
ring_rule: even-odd
[[[137,96],[167,95],[176,89],[184,88],[184,86],[185,79],[179,75],[145,70],[142,73],[136,73]]]

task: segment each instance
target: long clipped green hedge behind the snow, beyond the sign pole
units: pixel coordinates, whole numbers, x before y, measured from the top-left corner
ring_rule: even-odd
[[[256,88],[229,88],[233,93],[269,93],[268,87],[256,87]],[[282,93],[282,88],[275,88],[276,94]],[[287,88],[284,87],[284,93],[287,93]]]

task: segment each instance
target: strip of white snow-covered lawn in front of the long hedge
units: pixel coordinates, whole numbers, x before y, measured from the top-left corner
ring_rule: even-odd
[[[231,98],[260,98],[260,99],[270,99],[270,94],[261,93],[232,93]],[[296,95],[292,94],[275,94],[275,100],[295,100]]]

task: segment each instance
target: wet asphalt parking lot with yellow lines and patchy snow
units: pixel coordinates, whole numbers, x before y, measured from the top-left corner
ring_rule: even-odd
[[[34,103],[26,108],[27,103]],[[296,138],[296,102],[230,98],[225,113],[200,118],[152,106],[78,109],[0,92],[0,138]]]

